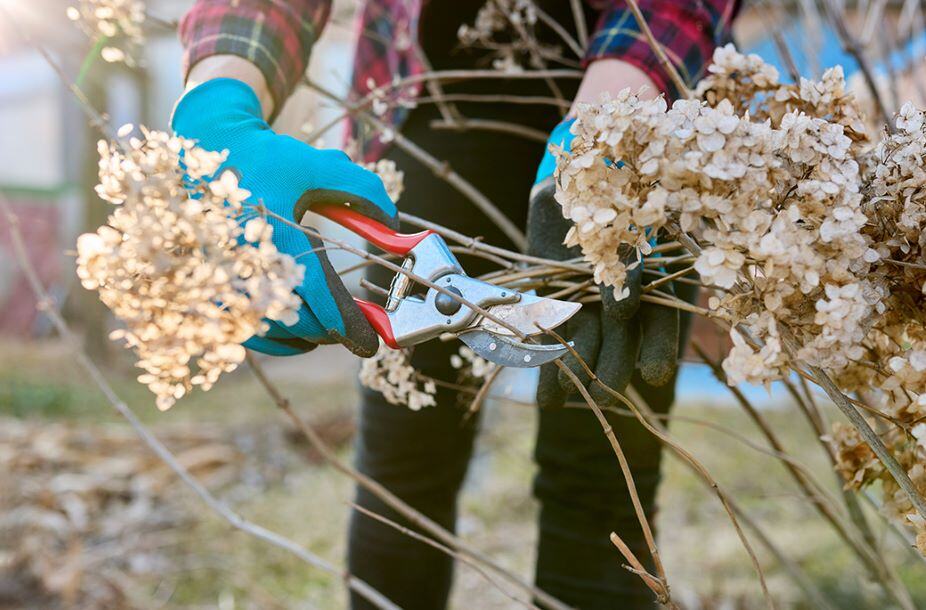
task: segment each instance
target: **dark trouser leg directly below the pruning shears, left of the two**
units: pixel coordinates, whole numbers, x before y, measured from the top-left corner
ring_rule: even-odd
[[[444,356],[445,358],[447,356]],[[363,392],[357,441],[357,467],[409,505],[448,530],[456,521],[456,502],[472,454],[476,421],[464,421],[455,396],[444,392],[438,406],[414,412],[388,404],[377,392]],[[363,488],[357,504],[411,527]],[[452,560],[446,554],[359,512],[351,515],[348,564],[406,610],[446,605]],[[370,608],[352,595],[351,607]]]

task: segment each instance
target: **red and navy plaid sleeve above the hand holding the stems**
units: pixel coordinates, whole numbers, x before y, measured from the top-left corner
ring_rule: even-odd
[[[718,46],[730,42],[739,0],[638,0],[640,11],[669,61],[689,87],[703,75]],[[621,59],[646,72],[672,100],[679,96],[624,0],[606,3],[589,39],[584,63]]]

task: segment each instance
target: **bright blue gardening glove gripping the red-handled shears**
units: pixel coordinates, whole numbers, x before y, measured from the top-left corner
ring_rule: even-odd
[[[352,163],[339,150],[318,150],[295,138],[279,135],[263,119],[260,102],[245,83],[218,78],[184,95],[171,118],[174,132],[198,141],[206,150],[228,150],[219,170],[234,169],[241,188],[252,193],[248,203],[262,204],[299,223],[315,204],[344,204],[386,225],[397,225],[395,204],[376,174]],[[360,356],[371,356],[379,345],[376,332],[354,304],[328,261],[320,240],[275,219],[273,243],[305,266],[299,321],[292,326],[269,321],[263,337],[245,347],[286,356],[320,343],[342,343]]]

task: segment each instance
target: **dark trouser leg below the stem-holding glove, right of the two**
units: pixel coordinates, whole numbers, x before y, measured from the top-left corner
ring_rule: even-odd
[[[693,300],[689,288],[679,296]],[[690,316],[682,316],[680,353],[687,343]],[[635,375],[631,382],[656,413],[668,413],[675,380],[652,387]],[[581,402],[581,398],[578,398]],[[662,447],[634,417],[608,412],[633,474],[643,511],[655,523]],[[653,593],[609,536],[616,532],[648,564],[649,550],[627,483],[601,424],[588,409],[540,411],[534,493],[541,503],[536,582],[544,591],[582,610],[653,607]],[[651,569],[651,568],[650,568]]]

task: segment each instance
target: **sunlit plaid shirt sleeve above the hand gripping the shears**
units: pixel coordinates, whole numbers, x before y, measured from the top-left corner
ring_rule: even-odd
[[[196,0],[180,21],[183,74],[211,55],[237,55],[267,79],[282,108],[305,73],[331,0]]]

